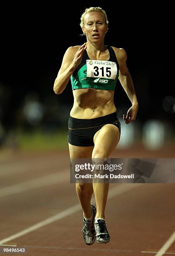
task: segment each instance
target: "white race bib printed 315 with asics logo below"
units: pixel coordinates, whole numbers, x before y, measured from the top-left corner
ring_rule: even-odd
[[[87,59],[86,66],[86,79],[89,82],[111,84],[116,79],[117,65],[115,62]]]

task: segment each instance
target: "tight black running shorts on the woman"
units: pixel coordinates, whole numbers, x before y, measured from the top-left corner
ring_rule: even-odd
[[[93,119],[79,119],[69,116],[68,142],[74,146],[94,146],[95,133],[108,123],[117,126],[120,132],[120,122],[116,112]]]

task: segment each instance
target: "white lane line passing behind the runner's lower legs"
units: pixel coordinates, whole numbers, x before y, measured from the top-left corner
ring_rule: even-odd
[[[109,190],[108,199],[112,198],[114,196],[117,196],[117,195],[121,195],[124,192],[127,192],[127,191],[129,191],[131,189],[134,189],[136,187],[139,187],[141,185],[142,184],[139,184],[139,183],[138,184],[127,184],[127,183],[126,184],[125,183],[124,184],[118,184],[116,187],[114,187],[114,188]],[[93,198],[91,200],[92,204],[94,204],[94,202],[95,202],[95,198]],[[54,216],[52,216],[50,218],[47,218],[46,220],[43,220],[43,221],[41,221],[41,222],[39,222],[39,223],[29,227],[29,228],[26,228],[26,229],[24,229],[24,230],[22,230],[22,231],[20,231],[18,233],[15,233],[12,236],[9,236],[9,237],[1,240],[0,244],[7,243],[8,241],[11,241],[11,240],[13,240],[15,238],[18,238],[20,236],[24,236],[24,235],[26,235],[26,234],[34,231],[34,230],[37,230],[38,228],[41,228],[41,227],[46,226],[46,225],[48,225],[50,223],[53,223],[56,220],[61,220],[61,219],[65,218],[65,217],[67,217],[69,215],[72,215],[73,213],[78,212],[79,210],[81,210],[80,204],[77,204],[77,205],[74,205],[72,207],[69,207],[68,209],[63,210],[62,212],[59,212],[58,214],[56,214],[56,215],[54,215]]]

